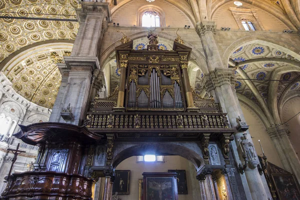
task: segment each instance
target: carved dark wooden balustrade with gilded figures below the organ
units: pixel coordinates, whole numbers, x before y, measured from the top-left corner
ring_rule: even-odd
[[[225,113],[88,112],[84,124],[96,129],[231,129]]]

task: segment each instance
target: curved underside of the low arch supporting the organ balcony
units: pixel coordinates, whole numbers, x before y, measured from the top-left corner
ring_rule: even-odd
[[[179,155],[191,161],[197,171],[204,166],[202,153],[196,142],[115,142],[115,146],[113,168],[128,157],[144,154]]]

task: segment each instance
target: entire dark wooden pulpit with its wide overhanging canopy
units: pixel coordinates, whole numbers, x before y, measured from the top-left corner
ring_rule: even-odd
[[[40,146],[34,171],[13,173],[1,199],[91,199],[92,179],[83,176],[88,147],[102,138],[66,123],[20,125],[14,136]]]

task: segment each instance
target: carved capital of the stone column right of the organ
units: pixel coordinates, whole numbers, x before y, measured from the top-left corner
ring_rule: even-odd
[[[215,68],[213,71],[209,71],[204,77],[204,86],[208,91],[219,87],[223,84],[229,84],[231,87],[235,86],[235,77],[232,69],[227,68]]]

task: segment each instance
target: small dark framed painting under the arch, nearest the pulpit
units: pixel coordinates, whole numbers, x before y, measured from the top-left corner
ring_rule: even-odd
[[[115,170],[115,179],[112,187],[112,193],[129,194],[130,170]]]

